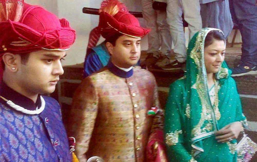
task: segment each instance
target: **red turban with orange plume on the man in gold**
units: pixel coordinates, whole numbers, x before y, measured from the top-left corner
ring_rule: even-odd
[[[100,34],[105,39],[117,33],[141,38],[150,32],[150,29],[140,27],[136,17],[128,13],[127,7],[118,0],[104,0],[101,3],[99,15],[99,24],[90,32],[87,48],[96,46]]]

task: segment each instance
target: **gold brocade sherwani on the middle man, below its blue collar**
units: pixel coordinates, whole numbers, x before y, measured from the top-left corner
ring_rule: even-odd
[[[154,76],[140,67],[121,78],[106,67],[85,78],[75,92],[70,135],[76,138],[80,161],[99,156],[107,161],[147,161],[145,152],[152,130],[163,128]]]

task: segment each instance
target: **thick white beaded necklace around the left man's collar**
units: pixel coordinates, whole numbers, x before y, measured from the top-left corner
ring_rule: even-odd
[[[3,96],[0,96],[4,101],[6,101],[6,103],[11,106],[13,109],[20,111],[22,113],[25,114],[29,114],[29,115],[36,115],[36,114],[40,114],[44,109],[45,109],[45,100],[44,98],[40,95],[40,100],[41,100],[41,106],[39,109],[36,110],[27,110],[19,105],[16,105],[15,103],[13,103],[11,100],[7,100],[6,98],[4,98]]]

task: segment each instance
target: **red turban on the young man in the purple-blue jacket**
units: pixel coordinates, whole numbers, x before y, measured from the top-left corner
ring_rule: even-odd
[[[5,52],[66,51],[75,41],[76,32],[70,28],[69,22],[59,20],[41,6],[26,4],[23,0],[0,0],[0,11],[1,60]]]

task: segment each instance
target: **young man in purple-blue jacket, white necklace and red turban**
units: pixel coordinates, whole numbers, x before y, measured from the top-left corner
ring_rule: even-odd
[[[75,30],[41,6],[0,1],[0,161],[72,161],[52,93]]]

